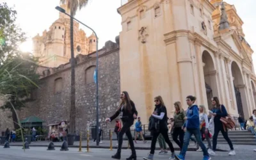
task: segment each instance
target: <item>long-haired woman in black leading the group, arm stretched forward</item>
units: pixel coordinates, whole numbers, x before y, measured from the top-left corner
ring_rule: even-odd
[[[122,143],[123,143],[123,136],[126,134],[129,144],[131,146],[132,150],[132,155],[127,158],[127,160],[132,160],[137,158],[136,156],[136,151],[134,148],[134,143],[132,140],[132,134],[130,127],[134,123],[134,119],[137,118],[138,112],[135,108],[134,102],[129,97],[129,94],[127,92],[122,92],[120,96],[120,104],[118,106],[118,109],[116,113],[111,116],[110,118],[106,119],[106,122],[111,122],[112,120],[115,120],[117,116],[120,116],[120,119],[123,122],[122,129],[118,133],[118,149],[117,152],[114,156],[112,156],[113,159],[121,159],[121,148],[122,148]]]

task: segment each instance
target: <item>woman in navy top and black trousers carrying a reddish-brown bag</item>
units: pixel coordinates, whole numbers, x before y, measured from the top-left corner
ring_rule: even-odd
[[[212,139],[212,152],[209,152],[212,156],[215,156],[216,153],[216,147],[217,147],[217,139],[218,139],[218,134],[221,131],[221,134],[227,141],[229,147],[230,147],[230,152],[228,153],[229,156],[234,156],[236,155],[236,152],[234,150],[233,144],[231,140],[228,138],[228,131],[227,129],[224,130],[224,125],[220,121],[221,117],[225,117],[228,115],[227,110],[223,104],[220,104],[220,100],[218,97],[213,97],[212,98],[212,105],[214,108],[212,109],[212,112],[210,112],[211,115],[214,116],[214,135]]]

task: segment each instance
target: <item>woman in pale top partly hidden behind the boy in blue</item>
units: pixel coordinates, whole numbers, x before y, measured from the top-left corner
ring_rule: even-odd
[[[208,152],[212,151],[212,145],[211,145],[211,140],[210,140],[210,135],[209,135],[209,119],[207,116],[207,112],[205,109],[204,105],[200,105],[199,106],[199,120],[200,120],[200,131],[202,134],[202,137],[205,137],[205,139],[207,140],[208,143]],[[202,141],[204,141],[204,139],[202,138]],[[199,145],[197,144],[196,147],[198,148],[198,150],[196,151],[202,151],[202,148],[199,147]]]

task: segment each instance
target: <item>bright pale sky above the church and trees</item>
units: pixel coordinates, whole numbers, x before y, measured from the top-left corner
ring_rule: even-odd
[[[111,1],[111,3],[109,3]],[[117,13],[117,8],[121,6],[121,1],[127,0],[92,0],[88,6],[76,13],[76,18],[84,22],[95,30],[99,36],[99,49],[104,46],[105,42],[112,40],[122,30],[121,17]],[[59,12],[55,9],[60,4],[60,0],[0,0],[8,3],[8,6],[14,6],[17,10],[17,24],[28,36],[28,41],[20,46],[22,51],[31,52],[33,43],[31,38],[37,33],[42,32],[58,19]],[[256,0],[225,0],[229,4],[234,4],[238,15],[244,22],[243,31],[246,41],[256,52]],[[90,29],[82,25],[87,36],[92,34]],[[253,54],[253,63],[256,68],[256,55]]]

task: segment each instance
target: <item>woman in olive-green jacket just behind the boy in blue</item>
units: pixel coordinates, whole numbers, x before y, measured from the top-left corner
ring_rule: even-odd
[[[174,112],[174,126],[173,126],[173,131],[172,131],[172,139],[177,143],[177,145],[180,147],[180,150],[182,149],[183,146],[183,141],[184,141],[184,131],[182,129],[182,126],[184,125],[184,118],[186,117],[185,111],[183,110],[181,103],[175,102],[174,103],[175,107],[175,112]],[[178,140],[179,136],[179,140]]]

